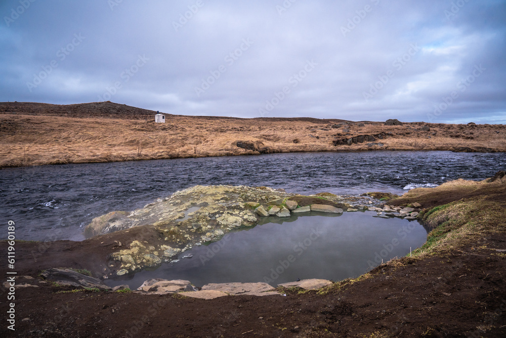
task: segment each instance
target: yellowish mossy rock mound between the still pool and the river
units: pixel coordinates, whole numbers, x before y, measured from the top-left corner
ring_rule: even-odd
[[[132,228],[154,230],[150,236],[132,236],[109,255],[110,275],[123,276],[162,262],[194,246],[219,241],[225,234],[256,226],[266,217],[290,217],[309,211],[342,213],[368,210],[379,202],[368,196],[290,194],[269,187],[196,185],[157,199],[131,212],[113,211],[96,217],[85,228],[87,237]],[[153,235],[154,233],[154,235]],[[128,235],[127,235],[128,236]]]

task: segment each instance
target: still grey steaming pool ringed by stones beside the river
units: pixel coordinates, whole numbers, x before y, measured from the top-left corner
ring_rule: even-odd
[[[418,222],[372,217],[375,214],[311,212],[286,219],[268,217],[255,228],[181,253],[175,264],[107,284],[126,283],[134,289],[151,278],[184,279],[199,287],[226,282],[275,286],[308,278],[337,281],[357,277],[382,260],[405,256],[427,240],[427,231]],[[193,257],[181,259],[188,253]]]

